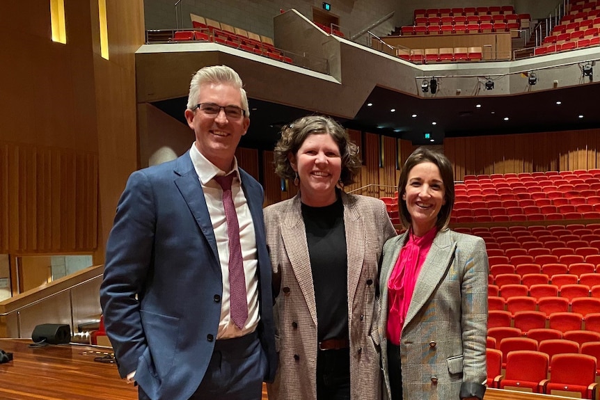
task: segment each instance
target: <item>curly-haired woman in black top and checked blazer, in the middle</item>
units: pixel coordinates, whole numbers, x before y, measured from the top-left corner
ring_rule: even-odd
[[[265,209],[279,353],[269,399],[380,399],[378,266],[395,236],[384,202],[340,189],[361,161],[331,118],[285,127],[275,160],[300,190]]]

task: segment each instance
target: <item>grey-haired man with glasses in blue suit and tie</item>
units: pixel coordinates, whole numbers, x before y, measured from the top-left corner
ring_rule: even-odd
[[[199,70],[185,117],[189,152],[134,172],[120,198],[100,287],[106,333],[139,399],[260,399],[277,362],[271,263],[262,187],[235,159],[250,124],[239,75]]]

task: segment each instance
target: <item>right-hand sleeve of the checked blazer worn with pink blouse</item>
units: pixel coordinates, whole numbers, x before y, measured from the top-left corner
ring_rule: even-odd
[[[471,246],[470,246],[471,247]],[[461,323],[464,355],[464,382],[460,398],[482,399],[487,377],[487,274],[489,266],[483,239],[474,238],[471,254],[464,265],[461,285]]]

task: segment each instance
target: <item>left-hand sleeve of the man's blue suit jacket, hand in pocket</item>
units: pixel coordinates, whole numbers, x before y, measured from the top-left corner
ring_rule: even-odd
[[[155,223],[152,186],[145,171],[139,170],[129,177],[118,202],[100,286],[106,333],[123,378],[136,370],[147,347],[137,296],[152,263]]]

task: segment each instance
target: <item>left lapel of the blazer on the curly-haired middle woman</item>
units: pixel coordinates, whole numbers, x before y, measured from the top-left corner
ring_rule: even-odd
[[[302,221],[300,209],[300,194],[294,197],[291,207],[285,211],[281,223],[281,237],[285,253],[292,264],[292,271],[300,285],[302,294],[308,305],[310,317],[317,325],[317,304],[315,302],[315,288],[313,287],[313,271],[310,269],[310,256],[306,242],[306,228]]]

